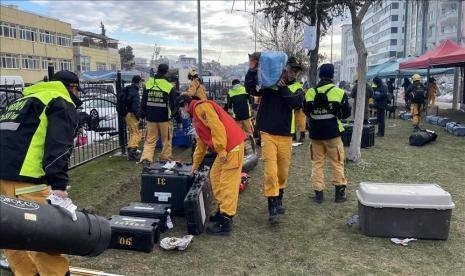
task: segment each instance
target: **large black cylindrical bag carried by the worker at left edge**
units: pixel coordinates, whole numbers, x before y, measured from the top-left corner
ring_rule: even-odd
[[[76,211],[0,195],[0,248],[97,256],[110,244],[110,222]]]

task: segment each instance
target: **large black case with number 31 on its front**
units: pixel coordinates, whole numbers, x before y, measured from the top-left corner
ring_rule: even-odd
[[[144,203],[171,204],[173,215],[184,215],[184,198],[192,186],[192,164],[178,163],[166,170],[156,162],[142,171],[140,198]]]

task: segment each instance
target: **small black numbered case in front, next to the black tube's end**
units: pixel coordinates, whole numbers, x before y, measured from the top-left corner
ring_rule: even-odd
[[[112,216],[109,248],[151,252],[160,239],[158,219]]]

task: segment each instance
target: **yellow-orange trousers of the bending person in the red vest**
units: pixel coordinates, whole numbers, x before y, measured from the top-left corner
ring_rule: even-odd
[[[244,162],[244,143],[232,149],[226,156],[226,164],[217,157],[210,170],[210,181],[220,212],[234,216],[239,198],[242,163]]]

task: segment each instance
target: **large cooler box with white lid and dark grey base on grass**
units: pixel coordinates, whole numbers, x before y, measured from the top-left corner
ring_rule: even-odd
[[[360,229],[367,236],[447,240],[451,195],[437,184],[360,183]]]

